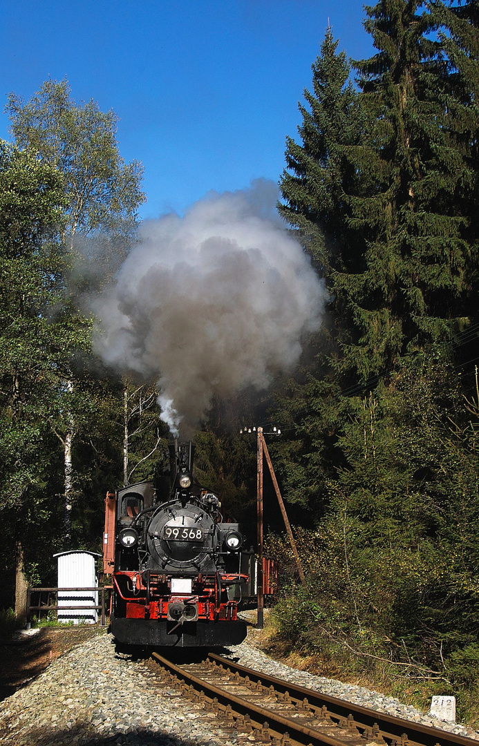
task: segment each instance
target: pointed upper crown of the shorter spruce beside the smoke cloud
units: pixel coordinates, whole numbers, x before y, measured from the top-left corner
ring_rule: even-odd
[[[363,131],[348,60],[337,46],[328,27],[312,66],[313,93],[305,89],[307,106],[298,104],[301,142],[287,137],[287,168],[280,180],[284,204],[278,206],[327,278],[341,261],[347,213],[343,195],[356,180],[345,148],[359,142]]]

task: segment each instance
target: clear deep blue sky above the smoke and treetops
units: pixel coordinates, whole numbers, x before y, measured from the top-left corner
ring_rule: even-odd
[[[0,0],[0,137],[7,93],[66,77],[119,115],[143,218],[277,181],[328,19],[348,56],[372,53],[358,0]]]

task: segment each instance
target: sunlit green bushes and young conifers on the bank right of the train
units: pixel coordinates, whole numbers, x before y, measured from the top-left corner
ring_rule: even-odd
[[[406,357],[337,439],[316,530],[269,538],[283,590],[279,636],[372,680],[440,681],[469,707],[479,627],[479,401],[440,348]],[[339,675],[333,669],[335,675]]]

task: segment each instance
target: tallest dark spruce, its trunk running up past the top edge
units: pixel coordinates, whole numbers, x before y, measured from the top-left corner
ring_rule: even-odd
[[[337,272],[334,289],[357,330],[342,365],[363,380],[467,322],[467,219],[458,208],[467,163],[438,95],[444,65],[431,39],[433,16],[422,5],[381,0],[366,7],[378,52],[356,63],[363,105],[375,117],[377,178],[369,194],[348,195],[364,266]]]

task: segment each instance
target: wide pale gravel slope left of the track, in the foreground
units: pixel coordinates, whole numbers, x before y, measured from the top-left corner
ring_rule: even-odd
[[[0,744],[234,746],[215,721],[101,632],[4,700]]]

